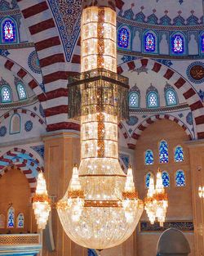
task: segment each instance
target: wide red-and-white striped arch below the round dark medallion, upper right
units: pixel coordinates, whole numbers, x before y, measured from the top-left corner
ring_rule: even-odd
[[[201,98],[197,95],[197,92],[191,84],[188,83],[180,74],[175,72],[175,70],[150,59],[140,59],[123,63],[118,66],[118,74],[140,68],[141,66],[161,75],[166,80],[169,80],[169,83],[171,83],[172,86],[179,89],[188,103],[188,106],[192,110],[197,130],[196,138],[204,138],[204,106]]]

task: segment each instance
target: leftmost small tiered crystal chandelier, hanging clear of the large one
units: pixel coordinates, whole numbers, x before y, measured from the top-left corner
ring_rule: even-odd
[[[38,174],[37,188],[33,196],[33,210],[38,229],[44,229],[51,211],[51,202],[47,194],[46,180],[42,172]]]

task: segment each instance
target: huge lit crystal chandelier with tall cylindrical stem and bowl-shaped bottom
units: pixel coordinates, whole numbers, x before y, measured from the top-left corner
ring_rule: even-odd
[[[143,212],[131,168],[118,162],[118,122],[128,115],[128,79],[117,72],[115,2],[83,1],[81,71],[69,78],[69,117],[81,117],[81,163],[57,204],[64,231],[78,245],[121,244]]]

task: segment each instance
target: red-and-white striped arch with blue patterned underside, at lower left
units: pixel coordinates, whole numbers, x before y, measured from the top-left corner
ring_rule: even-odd
[[[0,177],[2,177],[4,173],[7,173],[8,168],[16,166],[16,168],[24,173],[25,177],[28,179],[30,192],[31,195],[33,195],[37,186],[36,173],[38,173],[41,169],[43,170],[43,167],[39,165],[38,159],[33,159],[35,163],[37,163],[33,164],[33,162],[29,163],[28,159],[22,159],[21,157],[18,158],[20,153],[29,155],[29,157],[33,159],[33,154],[24,149],[14,148],[13,150],[7,151],[7,153],[0,157]]]

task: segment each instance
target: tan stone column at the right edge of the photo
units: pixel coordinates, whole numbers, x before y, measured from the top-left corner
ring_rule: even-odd
[[[191,165],[195,256],[204,255],[204,199],[198,187],[204,186],[204,140],[188,141]]]

